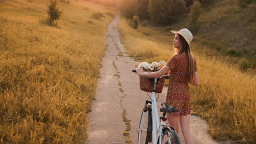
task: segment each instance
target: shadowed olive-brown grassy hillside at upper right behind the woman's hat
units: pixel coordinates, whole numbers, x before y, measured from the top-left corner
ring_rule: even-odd
[[[163,35],[170,35],[170,29],[189,28],[194,35],[193,42],[200,45],[198,51],[211,56],[229,57],[241,69],[256,68],[256,3],[241,8],[240,0],[222,0],[203,7],[196,25],[190,23],[189,15],[184,15],[176,23],[167,27],[153,27],[148,21],[141,26],[152,27]],[[144,34],[147,35],[147,31]],[[203,49],[201,49],[203,47]],[[254,70],[254,72],[255,70]]]

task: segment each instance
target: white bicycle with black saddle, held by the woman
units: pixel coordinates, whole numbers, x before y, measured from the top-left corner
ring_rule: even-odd
[[[136,73],[136,70],[132,70],[132,72]],[[146,100],[146,105],[143,107],[142,115],[141,115],[141,121],[139,123],[139,129],[138,129],[138,143],[139,144],[148,144],[149,142],[152,142],[152,136],[153,136],[153,144],[161,144],[161,143],[167,143],[167,144],[179,144],[181,143],[179,141],[178,134],[172,127],[168,127],[165,122],[167,121],[167,118],[165,118],[167,112],[177,112],[177,107],[173,107],[170,105],[167,105],[166,103],[161,103],[162,108],[160,109],[160,112],[163,112],[163,115],[158,118],[158,108],[156,105],[156,83],[158,80],[160,80],[162,77],[169,77],[169,75],[162,75],[157,78],[149,78],[154,79],[154,87],[152,90],[152,95],[150,97],[150,100]],[[160,119],[160,122],[159,122]],[[157,129],[156,129],[157,128]],[[152,134],[153,133],[153,134]]]

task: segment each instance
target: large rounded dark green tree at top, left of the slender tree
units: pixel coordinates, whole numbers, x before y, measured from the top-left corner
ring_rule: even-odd
[[[155,24],[166,26],[176,22],[187,12],[187,8],[183,0],[150,0],[148,12]]]

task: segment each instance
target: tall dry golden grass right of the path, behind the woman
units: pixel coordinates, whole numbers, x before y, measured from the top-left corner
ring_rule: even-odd
[[[149,27],[139,27],[136,31],[125,20],[119,23],[119,31],[129,55],[140,62],[160,59],[168,62],[173,55],[174,35],[164,35]],[[255,142],[255,73],[242,73],[225,58],[209,56],[210,52],[202,45],[192,44],[191,47],[196,49],[194,55],[200,75],[200,85],[190,86],[193,112],[207,119],[209,133],[216,139]]]

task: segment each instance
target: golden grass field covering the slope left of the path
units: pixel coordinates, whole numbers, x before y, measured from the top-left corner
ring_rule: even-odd
[[[84,143],[87,137],[86,113],[113,17],[94,20],[92,13],[109,11],[72,1],[59,4],[59,27],[49,27],[47,4],[0,3],[0,143]]]

